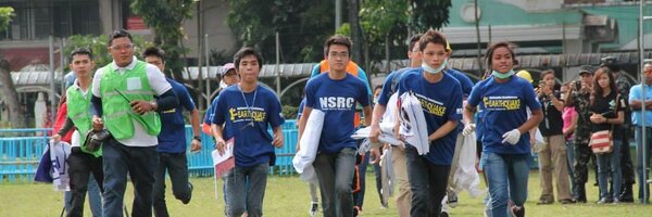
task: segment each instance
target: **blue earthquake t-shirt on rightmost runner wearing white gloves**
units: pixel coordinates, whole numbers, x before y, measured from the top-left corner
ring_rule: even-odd
[[[493,77],[478,82],[471,91],[467,104],[484,104],[482,152],[497,154],[529,154],[529,133],[523,133],[515,145],[502,143],[502,135],[521,127],[527,120],[527,107],[541,110],[532,85],[512,76],[504,84]]]

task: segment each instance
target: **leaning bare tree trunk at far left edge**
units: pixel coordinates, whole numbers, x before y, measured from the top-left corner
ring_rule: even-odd
[[[4,102],[9,106],[9,122],[11,122],[12,128],[25,128],[25,114],[21,111],[18,92],[16,92],[16,88],[13,85],[9,68],[9,62],[0,60],[0,82],[2,82]]]

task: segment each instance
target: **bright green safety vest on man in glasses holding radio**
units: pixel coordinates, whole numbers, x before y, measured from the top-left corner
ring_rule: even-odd
[[[115,72],[112,64],[104,67],[104,73],[100,78],[103,119],[104,126],[115,139],[133,138],[134,120],[139,123],[150,136],[159,136],[161,132],[159,113],[152,111],[138,115],[129,105],[129,101],[152,101],[154,99],[155,92],[149,84],[145,66],[145,62],[136,60],[136,66],[123,74]],[[124,93],[129,101],[115,90]]]

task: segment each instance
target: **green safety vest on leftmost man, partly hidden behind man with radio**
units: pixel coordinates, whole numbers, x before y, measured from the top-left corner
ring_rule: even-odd
[[[90,91],[92,88],[88,86]],[[73,120],[77,131],[79,131],[79,148],[83,152],[92,154],[96,157],[102,156],[102,149],[96,152],[90,152],[86,149],[86,135],[91,130],[91,115],[90,115],[90,95],[92,93],[86,93],[86,97],[82,93],[82,89],[76,87],[70,87],[66,91],[67,95],[67,116]]]

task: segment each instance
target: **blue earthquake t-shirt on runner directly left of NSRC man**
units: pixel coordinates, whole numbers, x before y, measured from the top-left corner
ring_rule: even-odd
[[[217,97],[212,123],[224,125],[224,131],[230,132],[224,133],[224,140],[235,139],[234,155],[237,167],[275,164],[276,155],[272,145],[274,138],[267,132],[267,128],[275,128],[285,123],[280,112],[278,98],[272,90],[260,85],[252,92],[240,91],[239,85],[222,90]]]

